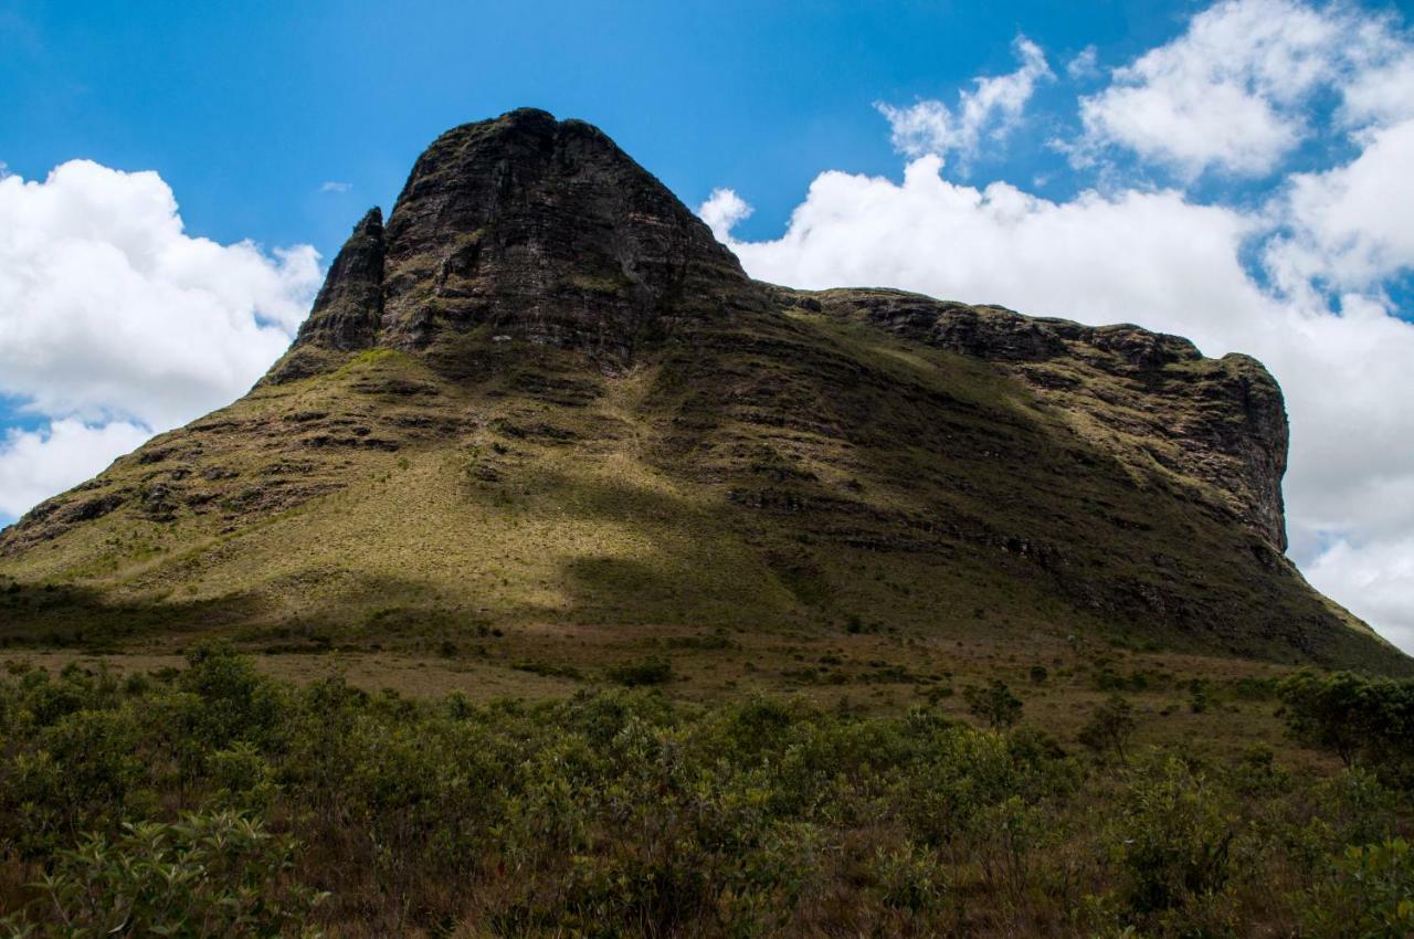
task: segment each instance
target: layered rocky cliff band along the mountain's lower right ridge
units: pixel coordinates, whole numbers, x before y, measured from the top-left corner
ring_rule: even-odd
[[[1287,549],[1281,477],[1287,412],[1256,359],[1206,359],[1182,337],[1087,327],[896,290],[779,291],[949,352],[998,363],[1041,396],[1087,413],[1134,465],[1210,484],[1278,552]]]

